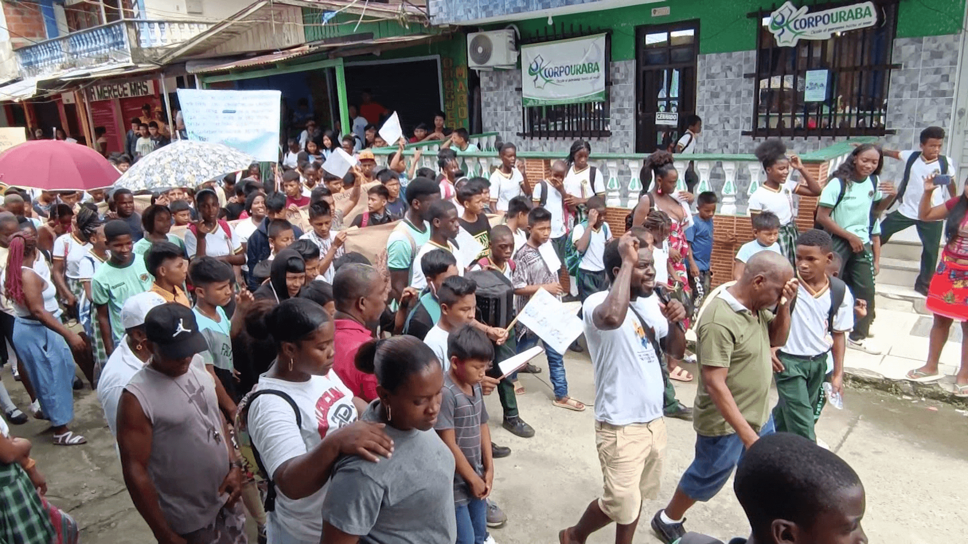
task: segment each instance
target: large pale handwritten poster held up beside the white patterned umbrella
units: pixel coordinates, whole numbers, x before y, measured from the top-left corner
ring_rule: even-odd
[[[279,160],[280,91],[178,89],[188,139],[224,143],[256,157]]]

